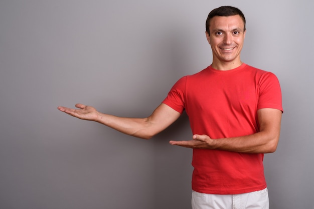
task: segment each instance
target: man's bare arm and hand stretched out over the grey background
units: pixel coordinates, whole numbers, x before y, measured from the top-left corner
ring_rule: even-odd
[[[76,104],[78,109],[59,106],[58,109],[74,117],[93,120],[122,133],[139,138],[149,139],[153,135],[166,129],[179,118],[180,112],[174,110],[167,104],[160,104],[150,116],[145,118],[119,117],[104,114],[92,106]]]

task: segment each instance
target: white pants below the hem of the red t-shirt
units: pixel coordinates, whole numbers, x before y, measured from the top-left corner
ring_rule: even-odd
[[[267,188],[242,194],[205,194],[192,192],[193,209],[268,209]]]

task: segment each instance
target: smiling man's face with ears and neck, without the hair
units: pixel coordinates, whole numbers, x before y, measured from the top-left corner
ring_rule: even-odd
[[[214,16],[210,20],[209,30],[210,34],[206,32],[206,37],[213,50],[213,67],[226,64],[239,66],[245,37],[240,15]]]

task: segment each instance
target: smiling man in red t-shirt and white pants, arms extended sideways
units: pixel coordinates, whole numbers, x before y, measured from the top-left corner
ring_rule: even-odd
[[[273,73],[241,61],[245,32],[241,10],[232,6],[212,10],[206,20],[212,64],[179,79],[146,118],[117,117],[84,104],[58,109],[146,139],[185,110],[192,140],[170,144],[193,148],[192,207],[268,208],[263,154],[277,147],[281,91]]]

